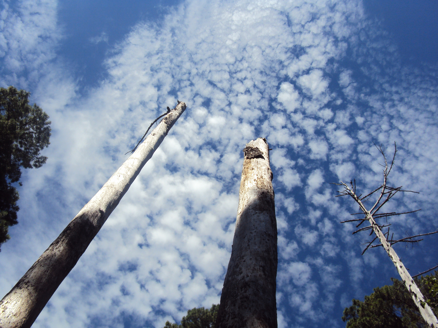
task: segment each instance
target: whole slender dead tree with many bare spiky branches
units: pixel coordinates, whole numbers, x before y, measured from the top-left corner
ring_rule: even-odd
[[[392,170],[392,167],[394,166],[394,160],[395,160],[396,153],[397,153],[396,143],[394,143],[394,148],[395,148],[394,156],[392,157],[391,164],[388,165],[384,150],[382,149],[381,145],[379,147],[377,147],[380,154],[382,154],[382,156],[385,160],[385,165],[382,165],[382,167],[383,167],[383,183],[378,188],[376,188],[375,190],[370,192],[369,194],[367,194],[365,196],[357,195],[356,181],[355,180],[350,181],[350,185],[347,185],[346,183],[344,183],[342,181],[341,181],[341,183],[334,183],[334,185],[339,185],[339,186],[343,187],[343,190],[338,191],[339,195],[337,195],[336,197],[350,196],[354,199],[354,201],[357,203],[357,205],[359,205],[360,212],[353,213],[351,215],[359,215],[359,214],[365,215],[363,218],[360,218],[360,219],[345,220],[345,221],[341,221],[340,223],[358,222],[356,225],[357,228],[359,228],[362,225],[362,223],[364,223],[364,222],[369,223],[369,226],[359,228],[358,230],[353,232],[353,234],[357,234],[360,231],[371,230],[370,236],[371,236],[371,234],[373,234],[373,232],[375,234],[374,239],[367,242],[367,246],[362,251],[362,254],[364,254],[365,251],[367,251],[369,248],[374,248],[374,247],[379,247],[379,246],[382,246],[383,248],[385,248],[385,251],[388,253],[389,258],[391,258],[392,262],[396,266],[396,269],[399,272],[400,277],[403,279],[407,290],[412,295],[412,299],[413,299],[414,303],[417,305],[418,310],[420,311],[420,314],[423,317],[424,321],[426,321],[430,327],[438,328],[438,321],[437,321],[437,318],[435,317],[434,313],[432,312],[431,307],[427,304],[426,300],[423,297],[423,294],[421,293],[417,284],[413,281],[409,272],[406,270],[405,266],[403,265],[403,262],[400,260],[400,258],[396,254],[396,251],[394,251],[394,249],[392,248],[393,244],[396,244],[399,242],[418,243],[419,241],[421,241],[423,239],[413,239],[413,238],[426,236],[426,235],[430,235],[430,234],[436,234],[438,231],[434,231],[434,232],[427,233],[427,234],[417,234],[415,236],[409,236],[409,237],[395,240],[394,234],[392,234],[391,237],[389,237],[389,226],[391,224],[390,223],[385,224],[386,221],[385,221],[385,223],[382,223],[379,220],[381,218],[387,219],[388,216],[396,216],[396,215],[414,213],[414,212],[417,212],[420,210],[420,209],[417,209],[414,211],[403,212],[403,213],[397,213],[397,212],[382,213],[381,212],[382,207],[387,202],[389,202],[389,200],[392,199],[392,197],[394,195],[396,195],[398,192],[413,192],[411,190],[403,190],[402,189],[403,186],[394,188],[394,187],[391,187],[388,185],[388,176]],[[363,202],[366,200],[369,200],[372,195],[378,195],[377,200],[374,202],[374,205],[371,206],[370,209],[367,209],[364,206]],[[382,229],[385,227],[388,227],[388,230],[385,233],[383,233]],[[380,241],[380,243],[373,244],[377,239]]]

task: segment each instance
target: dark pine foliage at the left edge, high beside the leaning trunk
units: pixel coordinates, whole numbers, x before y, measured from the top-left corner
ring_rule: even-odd
[[[21,167],[41,167],[47,157],[40,151],[49,145],[49,115],[36,104],[29,105],[30,93],[15,87],[0,88],[0,245],[10,237],[8,228],[17,224]]]

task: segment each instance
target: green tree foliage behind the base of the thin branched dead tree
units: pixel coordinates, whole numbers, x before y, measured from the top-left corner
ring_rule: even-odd
[[[364,301],[353,299],[342,320],[346,328],[426,328],[428,327],[403,281],[391,278],[392,286],[374,288]],[[415,278],[424,298],[438,314],[438,271],[431,276]]]

